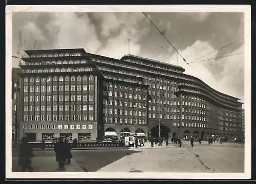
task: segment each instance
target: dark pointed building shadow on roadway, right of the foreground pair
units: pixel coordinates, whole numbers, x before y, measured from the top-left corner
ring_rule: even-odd
[[[86,172],[95,172],[104,166],[107,166],[116,160],[129,156],[133,153],[141,153],[142,151],[135,151],[129,149],[123,150],[92,150],[83,152],[72,152],[73,159]],[[71,161],[72,162],[72,161]]]

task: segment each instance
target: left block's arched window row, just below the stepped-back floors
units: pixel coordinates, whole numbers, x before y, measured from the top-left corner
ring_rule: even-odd
[[[65,76],[65,78],[64,77],[62,77],[62,76],[59,76],[59,77],[57,77],[57,76],[53,76],[53,77],[51,77],[51,76],[48,76],[47,78],[45,78],[45,77],[30,77],[30,78],[28,78],[28,77],[24,77],[24,82],[28,82],[28,81],[30,81],[30,82],[34,82],[34,80],[35,80],[35,82],[51,82],[52,80],[54,81],[54,82],[57,82],[57,81],[64,81],[64,79],[65,79],[65,81],[81,81],[81,80],[83,80],[83,81],[87,81],[88,79],[89,79],[89,81],[93,81],[94,80],[94,78],[96,79],[97,78],[97,76],[93,76],[93,75],[90,75],[90,76],[77,76],[77,77],[75,77],[75,76]]]

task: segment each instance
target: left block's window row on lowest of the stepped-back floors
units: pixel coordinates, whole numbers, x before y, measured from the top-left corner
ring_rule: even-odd
[[[39,69],[27,69],[23,70],[23,73],[54,73],[54,72],[91,72],[92,67],[77,67],[77,68],[39,68]]]

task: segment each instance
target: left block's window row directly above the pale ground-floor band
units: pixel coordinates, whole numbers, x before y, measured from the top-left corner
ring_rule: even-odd
[[[94,116],[93,114],[89,114],[89,117],[87,114],[75,114],[72,115],[59,115],[57,116],[54,114],[53,116],[51,114],[48,115],[36,115],[34,118],[34,115],[24,115],[23,121],[93,121]]]

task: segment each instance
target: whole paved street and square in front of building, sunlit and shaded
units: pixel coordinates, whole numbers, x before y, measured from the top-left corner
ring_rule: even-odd
[[[66,172],[244,172],[243,145],[194,145],[191,148],[189,142],[183,142],[181,148],[173,144],[166,148],[146,143],[144,147],[130,149],[72,150],[72,165],[67,166]],[[52,150],[34,154],[35,171],[56,171]],[[16,156],[17,152],[13,152],[13,171],[19,171]]]

